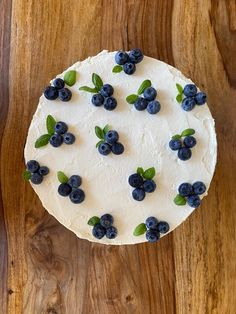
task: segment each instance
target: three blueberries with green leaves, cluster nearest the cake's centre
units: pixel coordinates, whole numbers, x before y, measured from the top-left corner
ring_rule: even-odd
[[[119,140],[119,134],[115,130],[109,130],[109,126],[106,125],[103,129],[99,126],[95,127],[95,133],[100,141],[96,147],[100,154],[106,156],[111,152],[115,155],[121,155],[124,152],[124,146]]]

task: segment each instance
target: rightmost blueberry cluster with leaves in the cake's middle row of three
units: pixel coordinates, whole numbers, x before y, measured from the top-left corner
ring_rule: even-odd
[[[197,140],[194,136],[195,131],[193,129],[184,130],[181,135],[176,134],[172,136],[172,139],[169,142],[170,149],[178,151],[178,158],[180,160],[188,160],[192,156],[191,148],[197,144]],[[182,138],[184,138],[182,140]]]

